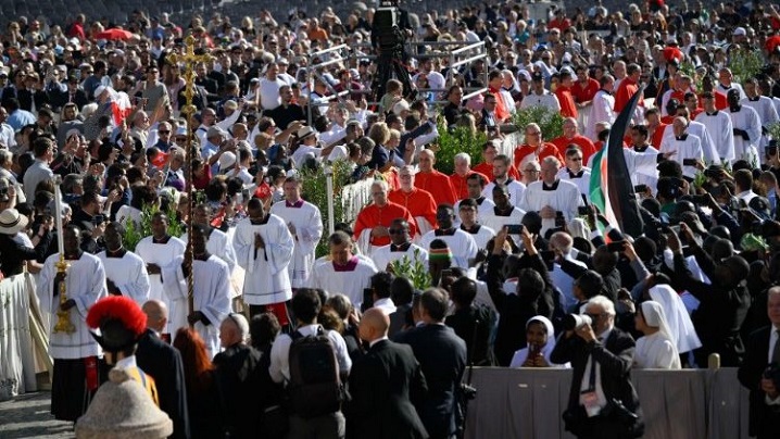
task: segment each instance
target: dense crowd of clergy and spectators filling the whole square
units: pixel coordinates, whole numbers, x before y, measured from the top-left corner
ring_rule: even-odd
[[[717,354],[751,391],[751,434],[780,436],[778,8],[401,8],[417,90],[391,79],[376,97],[373,8],[238,25],[136,11],[121,39],[84,15],[7,27],[0,288],[34,280],[16,293],[40,312],[4,318],[39,315],[53,415],[78,419],[116,366],[140,371],[177,438],[451,438],[468,365],[571,367],[566,428],[640,437],[631,369]],[[189,120],[168,57],[188,35],[212,57]],[[451,67],[437,41],[487,52]],[[350,57],[309,55],[340,43]],[[512,126],[539,106],[562,135]],[[449,175],[437,139],[452,127],[488,140]],[[593,166],[615,139],[639,233],[596,209]],[[338,161],[372,201],[324,236],[302,172]],[[115,297],[133,325],[98,306]],[[0,364],[10,394],[23,350]]]

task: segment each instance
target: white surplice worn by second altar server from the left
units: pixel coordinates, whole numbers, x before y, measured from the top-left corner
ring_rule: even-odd
[[[149,300],[149,274],[143,260],[127,251],[122,258],[110,258],[105,251],[98,253],[103,263],[105,277],[116,285],[122,296],[133,299],[139,306]]]

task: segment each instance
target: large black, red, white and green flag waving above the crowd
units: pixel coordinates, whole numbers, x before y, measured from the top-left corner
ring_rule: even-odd
[[[631,174],[624,155],[622,136],[631,123],[631,115],[644,88],[629,100],[609,129],[606,146],[593,156],[590,176],[590,199],[606,216],[613,227],[638,237],[642,235],[642,216],[633,193]]]

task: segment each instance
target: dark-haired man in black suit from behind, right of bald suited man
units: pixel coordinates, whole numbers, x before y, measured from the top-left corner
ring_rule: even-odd
[[[448,299],[442,290],[425,291],[418,305],[423,324],[395,337],[395,341],[412,347],[423,366],[428,398],[418,413],[431,439],[455,434],[455,397],[466,369],[466,342],[444,326],[446,308]]]

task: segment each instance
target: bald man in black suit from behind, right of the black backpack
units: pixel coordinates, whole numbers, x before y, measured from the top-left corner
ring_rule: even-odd
[[[366,310],[361,339],[370,348],[350,373],[352,400],[344,407],[348,438],[427,438],[413,402],[428,388],[408,346],[388,340],[390,317],[378,308]]]

